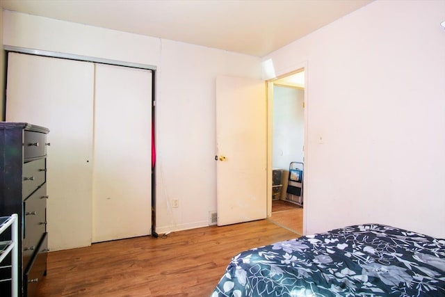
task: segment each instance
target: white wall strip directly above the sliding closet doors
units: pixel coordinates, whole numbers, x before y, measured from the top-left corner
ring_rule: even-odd
[[[158,65],[159,38],[3,12],[3,45]]]

